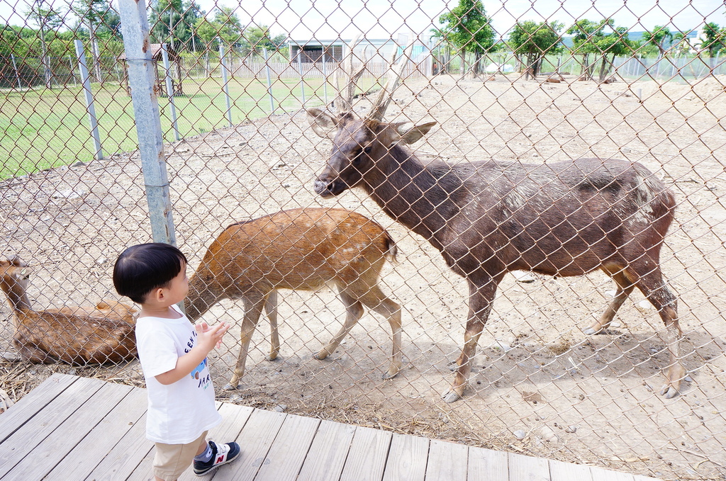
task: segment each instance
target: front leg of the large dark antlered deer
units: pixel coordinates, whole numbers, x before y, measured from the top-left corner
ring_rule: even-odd
[[[464,332],[464,348],[456,363],[458,369],[454,375],[452,387],[442,396],[447,403],[453,403],[464,395],[469,373],[471,371],[471,361],[476,355],[476,344],[484,329],[489,313],[492,311],[492,303],[494,303],[494,295],[497,294],[497,285],[499,279],[487,277],[482,279],[467,278],[469,284],[469,318],[466,322],[466,331]]]

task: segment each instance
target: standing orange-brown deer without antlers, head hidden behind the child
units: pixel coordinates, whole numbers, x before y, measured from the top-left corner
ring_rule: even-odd
[[[186,312],[200,318],[222,299],[242,299],[240,355],[227,390],[236,389],[245,374],[250,338],[267,313],[271,348],[277,358],[277,289],[317,290],[335,284],[346,306],[346,320],[333,340],[315,355],[325,359],[338,348],[363,314],[363,305],[388,319],[393,352],[383,379],[401,369],[401,307],[378,286],[386,258],[395,258],[396,244],[383,227],[344,209],[307,208],[233,223],[212,242],[189,279]]]

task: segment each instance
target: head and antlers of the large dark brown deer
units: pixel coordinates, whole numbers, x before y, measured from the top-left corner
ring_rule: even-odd
[[[343,61],[347,82],[345,88],[338,91],[335,99],[338,114],[330,115],[319,109],[307,109],[313,131],[333,141],[327,164],[314,183],[315,192],[322,197],[338,195],[377,173],[385,175],[381,164],[386,163],[390,157],[389,152],[396,144],[412,144],[436,125],[436,122],[418,126],[411,122],[383,122],[383,115],[391,103],[391,95],[401,78],[401,70],[410,57],[413,44],[406,49],[397,65],[393,65],[393,57],[398,49],[393,49],[388,81],[373,102],[369,114],[365,118],[358,118],[353,113],[351,105],[356,81],[365,67],[363,62],[353,71],[353,48],[357,42],[358,38],[352,41]],[[335,83],[337,86],[337,78]]]

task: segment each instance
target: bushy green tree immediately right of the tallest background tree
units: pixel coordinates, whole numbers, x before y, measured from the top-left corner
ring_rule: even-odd
[[[560,52],[560,30],[564,26],[560,22],[517,22],[509,34],[508,44],[517,57],[526,57],[527,68],[531,68],[532,75],[537,75],[544,56]]]

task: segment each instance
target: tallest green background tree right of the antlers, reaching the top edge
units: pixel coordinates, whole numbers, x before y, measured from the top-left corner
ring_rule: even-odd
[[[465,54],[470,52],[474,54],[472,73],[478,75],[481,58],[494,46],[492,20],[481,0],[459,0],[457,7],[439,17],[439,23],[444,27],[436,35],[459,50],[462,73]]]

